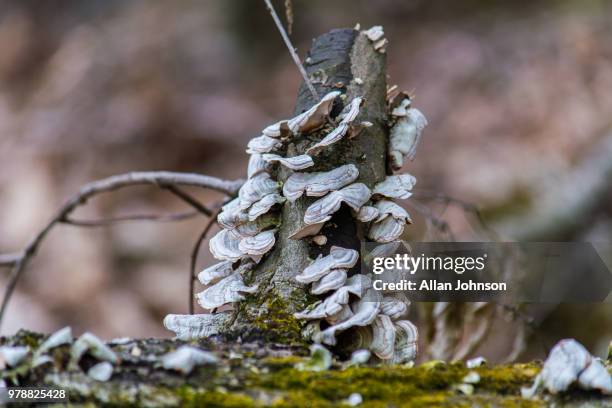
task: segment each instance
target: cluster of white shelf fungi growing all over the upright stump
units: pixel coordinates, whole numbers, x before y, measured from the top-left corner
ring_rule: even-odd
[[[373,27],[366,36],[377,51],[384,52],[387,41],[382,28]],[[388,155],[396,170],[404,155],[414,155],[427,123],[420,112],[410,108],[410,99],[400,95],[403,99],[397,104],[403,111],[398,110],[394,101],[390,105],[391,133],[395,137],[389,144]],[[256,286],[247,286],[243,276],[274,247],[279,223],[277,204],[289,201],[287,205],[292,205],[304,195],[317,197],[290,238],[314,237],[312,242],[318,245],[324,245],[327,237],[317,234],[343,204],[352,210],[356,220],[365,224],[367,238],[374,242],[396,241],[406,224],[411,223],[409,214],[393,201],[410,197],[416,179],[409,174],[387,176],[370,189],[357,182],[359,170],[353,163],[341,164],[326,172],[303,171],[315,164],[320,152],[372,125],[356,121],[365,102],[362,97],[348,101],[336,120],[330,121],[334,101],[340,97],[339,91],[330,92],[307,111],[266,127],[261,136],[248,143],[248,180],[238,197],[222,208],[218,216],[222,230],[210,240],[210,251],[221,262],[198,275],[201,283],[210,285],[197,295],[202,307],[217,309],[241,301],[245,294],[257,290]],[[335,127],[308,147],[306,154],[294,157],[278,154],[294,136],[311,134],[330,122]],[[273,178],[274,164],[293,171],[282,186]],[[376,300],[368,296],[372,291],[371,278],[361,274],[350,276],[349,271],[358,261],[357,251],[334,246],[327,256],[320,256],[296,276],[298,282],[311,285],[312,294],[323,297],[296,317],[311,321],[310,328],[316,327],[311,339],[317,343],[333,345],[338,333],[350,329],[359,338],[361,348],[370,349],[382,360],[401,363],[414,359],[417,329],[402,320],[409,302],[392,294],[383,294],[384,297]],[[201,337],[214,334],[206,326],[219,324],[223,320],[219,319],[220,315],[227,314],[168,315],[164,324],[178,337]]]

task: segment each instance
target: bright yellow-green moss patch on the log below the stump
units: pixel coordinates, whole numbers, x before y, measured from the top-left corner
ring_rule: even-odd
[[[317,373],[290,367],[294,359],[270,362],[274,369],[266,375],[250,376],[248,384],[250,388],[281,393],[275,406],[335,406],[351,393],[361,394],[366,407],[390,404],[470,407],[474,398],[481,399],[483,406],[541,405],[540,401],[519,397],[520,386],[528,384],[537,374],[535,365],[478,369],[482,380],[476,384],[477,394],[464,396],[453,388],[470,371],[462,363],[425,364],[415,368],[351,367]]]

